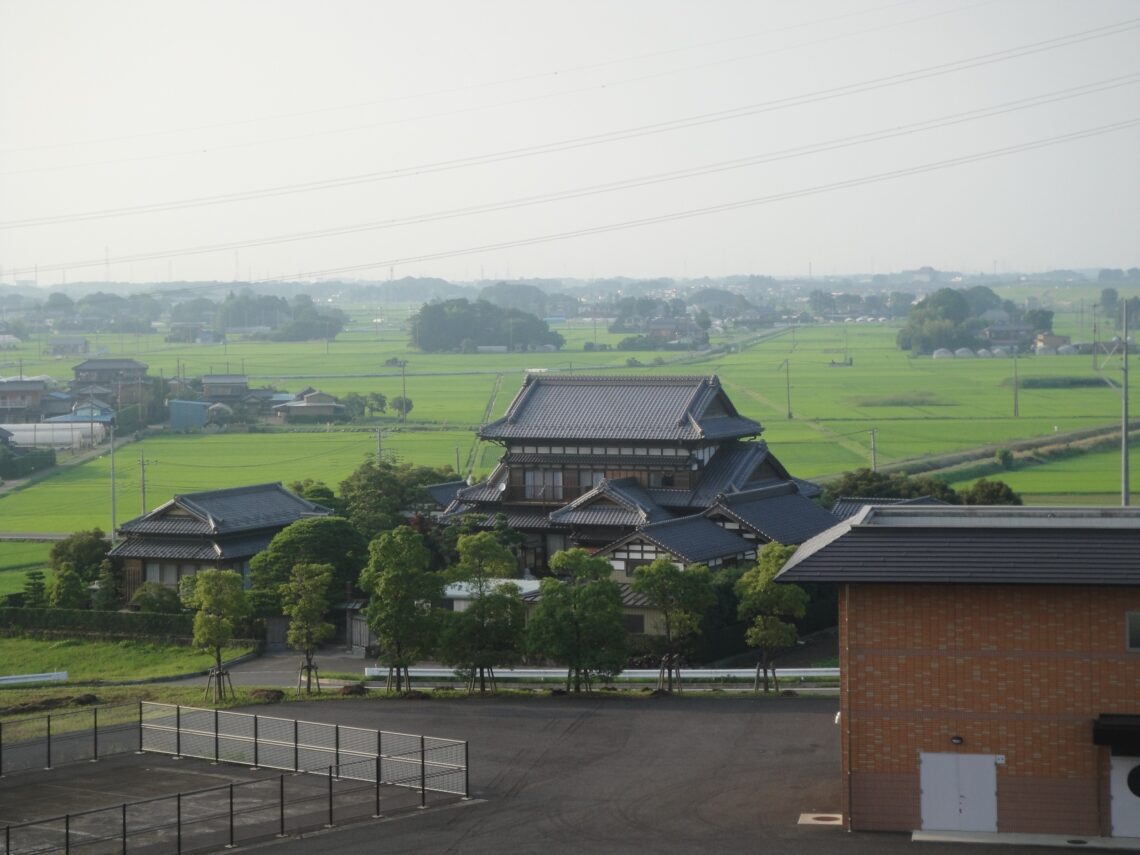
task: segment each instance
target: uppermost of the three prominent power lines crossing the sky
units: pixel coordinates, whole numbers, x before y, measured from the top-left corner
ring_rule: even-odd
[[[556,152],[564,152],[587,146],[595,146],[608,142],[616,142],[620,140],[634,139],[649,135],[676,131],[686,128],[694,128],[699,125],[710,124],[714,122],[742,119],[744,116],[757,115],[760,113],[768,113],[777,109],[787,109],[789,107],[803,106],[806,104],[814,104],[823,100],[830,100],[833,98],[847,97],[849,95],[856,95],[877,89],[902,85],[905,83],[912,83],[918,80],[927,80],[944,74],[952,74],[969,68],[991,65],[993,63],[1007,62],[1009,59],[1016,59],[1033,54],[1040,54],[1047,50],[1054,50],[1057,48],[1068,47],[1070,44],[1077,44],[1094,39],[1102,39],[1106,36],[1124,33],[1130,30],[1135,30],[1137,27],[1140,27],[1140,18],[1130,18],[1127,21],[1117,22],[1115,24],[1093,27],[1091,30],[1084,30],[1078,33],[1070,33],[1068,35],[1047,39],[1043,41],[1033,42],[1016,48],[1007,48],[1004,50],[992,51],[990,54],[983,54],[979,56],[969,57],[967,59],[942,63],[938,65],[927,66],[925,68],[919,68],[910,72],[889,74],[886,76],[874,78],[857,83],[848,83],[841,87],[817,90],[805,95],[790,96],[787,98],[777,98],[769,101],[760,101],[757,104],[744,105],[741,107],[733,107],[731,109],[716,111],[712,113],[705,113],[694,116],[687,116],[684,119],[668,120],[665,122],[656,122],[651,124],[638,125],[635,128],[627,128],[618,131],[609,131],[604,133],[577,137],[555,142],[506,149],[491,154],[458,157],[449,161],[438,161],[434,163],[421,164],[416,166],[405,166],[394,170],[366,172],[366,173],[344,176],[333,179],[324,179],[319,181],[309,181],[294,185],[279,185],[276,187],[261,188],[258,190],[220,194],[214,196],[198,196],[187,199],[158,202],[145,205],[101,209],[97,211],[87,211],[73,214],[55,214],[48,217],[28,218],[23,220],[9,220],[6,222],[0,222],[0,229],[27,228],[32,226],[46,226],[46,225],[56,225],[63,222],[81,222],[87,220],[105,219],[111,217],[124,217],[124,215],[141,214],[141,213],[157,213],[162,211],[174,211],[187,207],[198,207],[204,205],[225,204],[225,203],[242,202],[242,201],[259,199],[259,198],[270,198],[275,196],[292,195],[295,193],[310,193],[315,190],[333,189],[337,187],[349,187],[380,180],[390,180],[393,178],[404,178],[408,176],[418,176],[432,172],[443,172],[449,170],[465,169],[470,166],[512,161],[521,157],[534,157],[538,155],[553,154]]]

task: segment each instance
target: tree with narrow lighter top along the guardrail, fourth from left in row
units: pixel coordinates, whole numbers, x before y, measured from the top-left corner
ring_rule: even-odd
[[[448,577],[471,593],[467,608],[447,620],[442,654],[447,665],[469,674],[469,686],[494,685],[495,668],[514,665],[522,657],[526,609],[519,588],[498,580],[518,572],[514,553],[491,531],[459,538],[459,562]]]

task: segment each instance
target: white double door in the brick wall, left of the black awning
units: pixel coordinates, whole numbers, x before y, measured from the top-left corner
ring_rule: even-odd
[[[920,754],[922,830],[996,831],[996,759],[992,754]]]

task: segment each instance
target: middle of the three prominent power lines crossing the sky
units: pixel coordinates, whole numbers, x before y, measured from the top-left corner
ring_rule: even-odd
[[[793,157],[801,157],[811,154],[819,154],[822,152],[837,150],[856,145],[865,145],[869,142],[894,139],[897,137],[904,137],[921,131],[937,130],[954,124],[961,124],[963,122],[972,122],[980,119],[990,119],[993,116],[1005,115],[1021,109],[1028,109],[1031,107],[1037,107],[1047,104],[1054,104],[1057,101],[1067,100],[1070,98],[1077,98],[1085,95],[1102,92],[1124,85],[1135,84],[1138,82],[1140,82],[1140,73],[1125,74],[1118,78],[1110,78],[1107,80],[1084,83],[1077,87],[1070,87],[1068,89],[1061,89],[1052,92],[1031,96],[1027,98],[1019,98],[1011,101],[1004,101],[1002,104],[996,104],[990,107],[982,107],[978,109],[953,113],[950,115],[923,120],[921,122],[913,122],[911,124],[899,125],[880,131],[871,131],[868,133],[840,137],[806,146],[797,146],[793,148],[769,152],[766,154],[751,155],[749,157],[740,157],[730,161],[719,161],[716,163],[705,164],[701,166],[692,166],[689,169],[674,170],[670,172],[662,172],[650,176],[640,176],[635,178],[624,179],[620,181],[611,181],[588,187],[579,187],[557,193],[526,196],[521,198],[491,202],[479,205],[469,205],[465,207],[451,209],[447,211],[438,211],[433,213],[417,214],[410,217],[400,217],[388,220],[378,220],[374,222],[356,223],[337,228],[300,231],[300,233],[276,235],[262,238],[247,238],[243,241],[231,241],[221,244],[189,246],[177,250],[155,250],[152,252],[136,253],[131,255],[119,255],[114,258],[103,256],[98,259],[59,262],[55,264],[38,264],[35,266],[35,268],[14,269],[13,275],[31,274],[33,270],[38,270],[39,272],[52,272],[58,270],[73,270],[73,269],[82,269],[89,267],[99,267],[111,263],[114,264],[131,263],[136,261],[154,261],[161,259],[182,258],[186,255],[201,255],[212,252],[228,252],[233,250],[250,249],[253,246],[271,246],[285,243],[296,243],[301,241],[312,241],[324,237],[335,237],[341,235],[359,234],[364,231],[375,231],[380,229],[394,228],[398,226],[418,225],[424,222],[438,222],[440,220],[448,220],[461,217],[471,217],[481,213],[505,211],[505,210],[526,207],[538,204],[548,204],[552,202],[581,198],[585,196],[594,196],[604,193],[614,193],[618,190],[633,189],[637,187],[645,187],[649,185],[662,184],[667,181],[676,181],[686,178],[714,174],[717,172],[724,172],[728,170],[742,169],[747,166],[754,166],[766,163],[774,163],[776,161],[790,160]]]

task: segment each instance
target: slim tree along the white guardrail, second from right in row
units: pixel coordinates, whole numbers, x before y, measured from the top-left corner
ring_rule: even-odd
[[[700,630],[701,616],[716,600],[709,569],[695,565],[683,570],[669,559],[656,559],[634,571],[633,589],[661,612],[665,628],[661,669],[667,675],[665,689],[671,692],[675,675],[681,686],[677,645]]]

